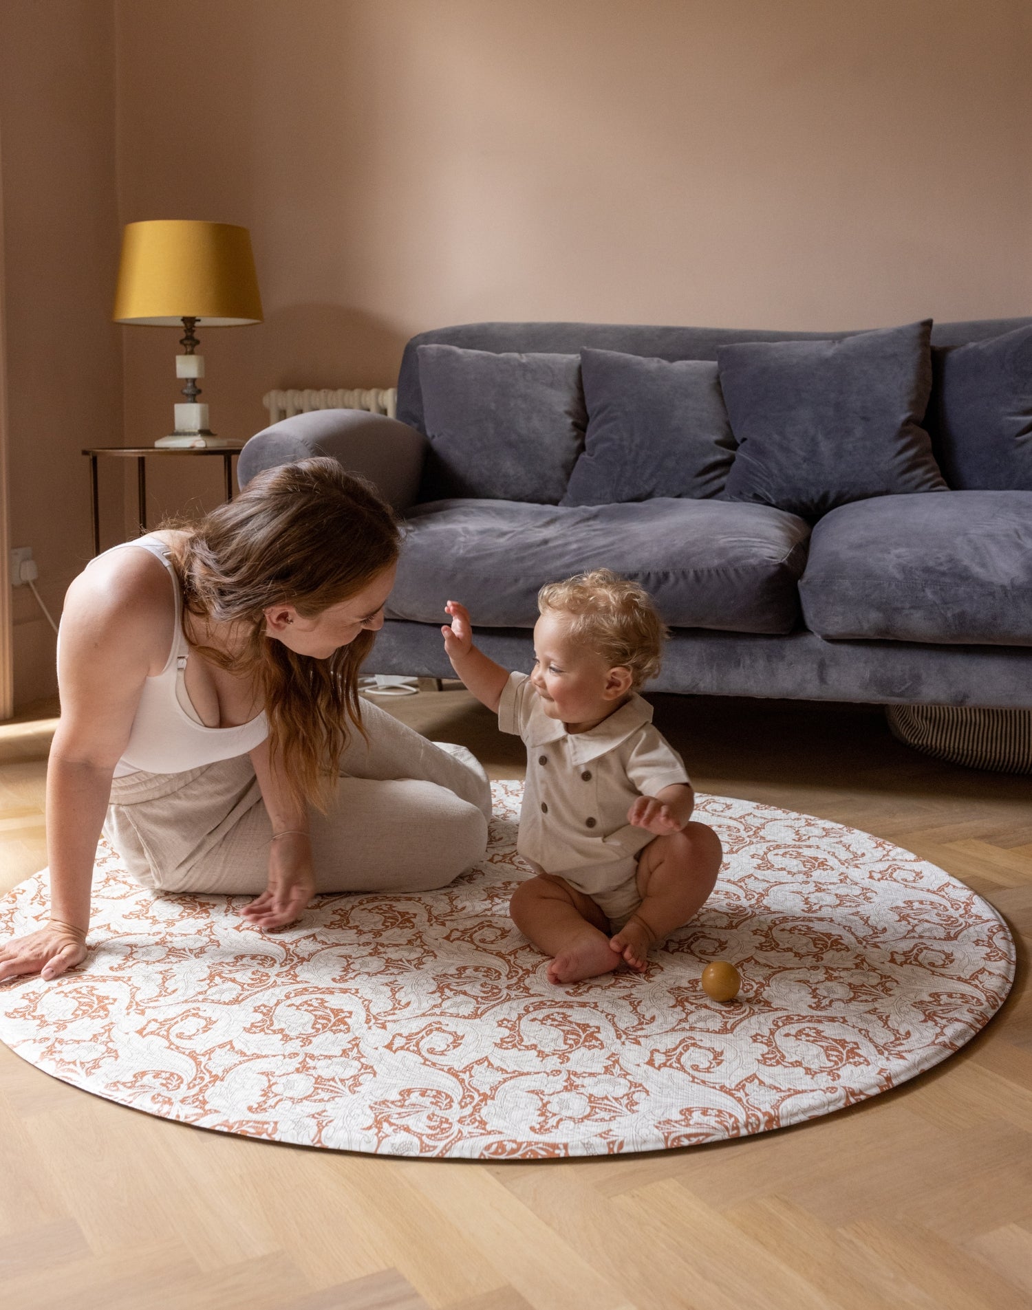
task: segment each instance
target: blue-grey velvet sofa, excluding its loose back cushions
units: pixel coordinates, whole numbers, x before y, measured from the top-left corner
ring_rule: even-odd
[[[1032,318],[935,324],[932,388],[942,385],[951,351],[1029,326]],[[662,481],[645,499],[559,503],[568,499],[561,483],[578,457],[572,447],[542,502],[534,499],[534,476],[551,455],[539,460],[532,447],[510,439],[509,398],[496,403],[489,385],[473,415],[489,440],[472,449],[468,482],[442,477],[421,347],[556,360],[608,351],[654,368],[720,359],[723,369],[728,346],[859,335],[564,322],[427,331],[405,348],[396,419],[353,410],[295,415],[248,441],[239,478],[243,486],[261,468],[334,455],[395,504],[407,541],[370,673],[452,676],[439,633],[448,599],[469,607],[486,654],[528,671],[539,586],[606,566],[640,580],[671,629],[650,690],[1029,707],[1032,486],[957,489],[936,470],[934,489],[862,496],[809,516],[708,487],[696,495],[679,485],[665,494]],[[459,351],[446,352],[448,367],[462,364]],[[860,388],[859,407],[865,396]],[[935,448],[934,401],[934,392],[922,394],[917,421],[931,430]],[[726,451],[732,468],[736,457],[744,461],[733,440]],[[799,473],[805,479],[809,464],[800,462]],[[492,494],[496,474],[510,487],[530,478],[531,490],[521,499]]]

